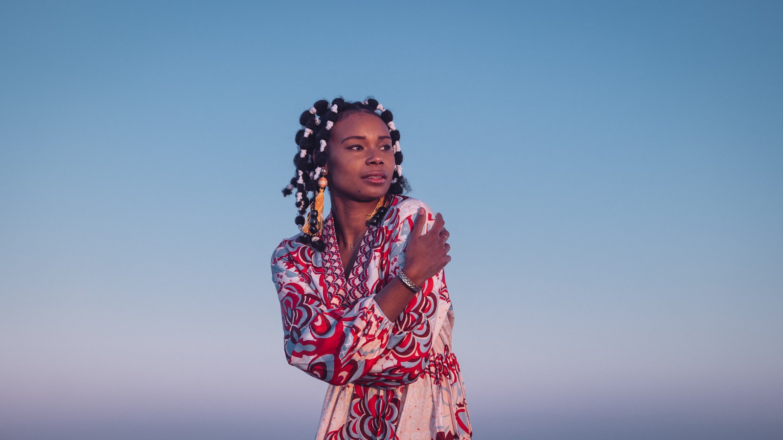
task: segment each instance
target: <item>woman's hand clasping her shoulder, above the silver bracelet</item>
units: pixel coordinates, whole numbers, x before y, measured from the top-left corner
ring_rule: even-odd
[[[451,246],[446,243],[449,240],[449,231],[443,227],[446,222],[438,212],[435,215],[435,223],[428,233],[424,235],[424,224],[427,222],[427,214],[424,207],[419,208],[416,218],[413,220],[413,230],[408,237],[405,250],[405,267],[402,272],[417,286],[424,284],[444,266],[449,264],[449,250]]]

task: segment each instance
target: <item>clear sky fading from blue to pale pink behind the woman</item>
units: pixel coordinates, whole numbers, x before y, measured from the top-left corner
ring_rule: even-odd
[[[312,438],[269,256],[374,95],[478,440],[783,438],[781,2],[0,2],[0,438]]]

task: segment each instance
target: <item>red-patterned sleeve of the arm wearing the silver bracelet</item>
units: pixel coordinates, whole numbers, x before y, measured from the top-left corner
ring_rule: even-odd
[[[309,274],[300,272],[309,258],[301,258],[301,247],[294,250],[292,244],[284,241],[272,255],[288,363],[330,384],[363,377],[383,352],[391,322],[374,295],[352,305],[327,307],[312,288]]]

